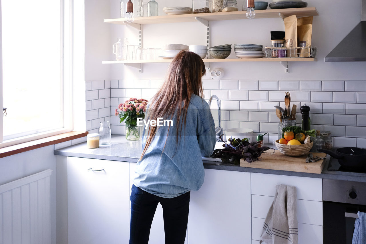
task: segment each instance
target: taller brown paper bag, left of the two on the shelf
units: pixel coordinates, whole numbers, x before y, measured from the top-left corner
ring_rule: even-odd
[[[285,47],[295,48],[297,47],[297,18],[296,15],[291,15],[283,19],[285,22]],[[292,40],[292,41],[291,41]],[[290,47],[292,46],[292,47]],[[296,49],[293,49],[296,50]],[[286,51],[288,58],[297,57],[297,53],[288,49]]]

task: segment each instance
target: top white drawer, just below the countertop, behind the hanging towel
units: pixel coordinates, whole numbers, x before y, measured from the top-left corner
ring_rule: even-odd
[[[275,196],[276,185],[296,186],[297,199],[322,201],[322,179],[289,175],[251,173],[251,193]]]

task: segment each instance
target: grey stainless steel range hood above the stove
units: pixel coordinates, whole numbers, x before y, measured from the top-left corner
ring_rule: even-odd
[[[324,58],[325,62],[366,61],[366,0],[361,4],[361,22]]]

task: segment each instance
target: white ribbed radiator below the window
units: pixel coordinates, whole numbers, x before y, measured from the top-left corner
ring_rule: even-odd
[[[0,244],[51,243],[51,173],[0,186]]]

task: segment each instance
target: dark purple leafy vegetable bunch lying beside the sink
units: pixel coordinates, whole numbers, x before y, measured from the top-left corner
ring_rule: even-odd
[[[223,141],[222,136],[220,136],[221,141]],[[221,158],[221,161],[224,163],[230,163],[230,160],[232,160],[234,164],[239,164],[240,159],[245,158],[248,163],[251,163],[257,161],[259,156],[265,153],[264,151],[273,149],[264,146],[258,147],[258,143],[256,142],[249,143],[248,138],[244,138],[243,140],[232,138],[229,141],[229,144],[223,141],[225,143],[223,144],[224,148],[215,149],[211,157]]]

